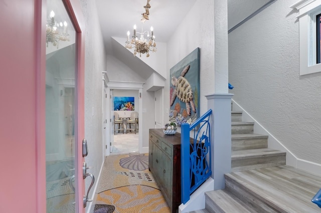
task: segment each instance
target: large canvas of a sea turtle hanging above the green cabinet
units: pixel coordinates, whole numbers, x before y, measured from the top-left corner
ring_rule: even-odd
[[[170,121],[191,124],[200,116],[200,48],[173,66],[170,77]]]

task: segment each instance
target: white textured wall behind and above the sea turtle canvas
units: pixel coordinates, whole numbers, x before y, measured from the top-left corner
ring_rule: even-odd
[[[200,114],[207,111],[204,95],[214,93],[214,1],[197,0],[171,36],[167,46],[167,81],[164,89],[164,123],[169,120],[170,68],[200,47]],[[227,74],[226,74],[227,75]],[[226,76],[227,78],[227,76]],[[226,80],[227,81],[227,80]]]

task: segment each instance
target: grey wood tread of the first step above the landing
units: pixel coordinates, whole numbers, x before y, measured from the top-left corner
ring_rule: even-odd
[[[245,149],[232,151],[232,160],[264,157],[264,156],[279,156],[285,155],[286,152],[279,151],[271,148],[256,148],[256,149]]]

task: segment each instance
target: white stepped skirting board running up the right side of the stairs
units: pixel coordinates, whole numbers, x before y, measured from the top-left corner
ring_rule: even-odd
[[[266,130],[258,121],[256,121],[242,106],[233,100],[233,111],[242,111],[242,120],[255,122],[254,132],[268,135],[268,147],[286,152],[286,165],[298,168],[316,175],[321,175],[321,164],[297,158],[281,141],[276,139],[268,130]]]

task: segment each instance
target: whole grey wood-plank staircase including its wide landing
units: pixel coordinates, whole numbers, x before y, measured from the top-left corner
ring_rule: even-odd
[[[268,148],[268,136],[253,127],[232,111],[232,172],[225,189],[206,192],[206,208],[191,213],[321,212],[311,202],[321,177],[285,165],[286,153]]]

